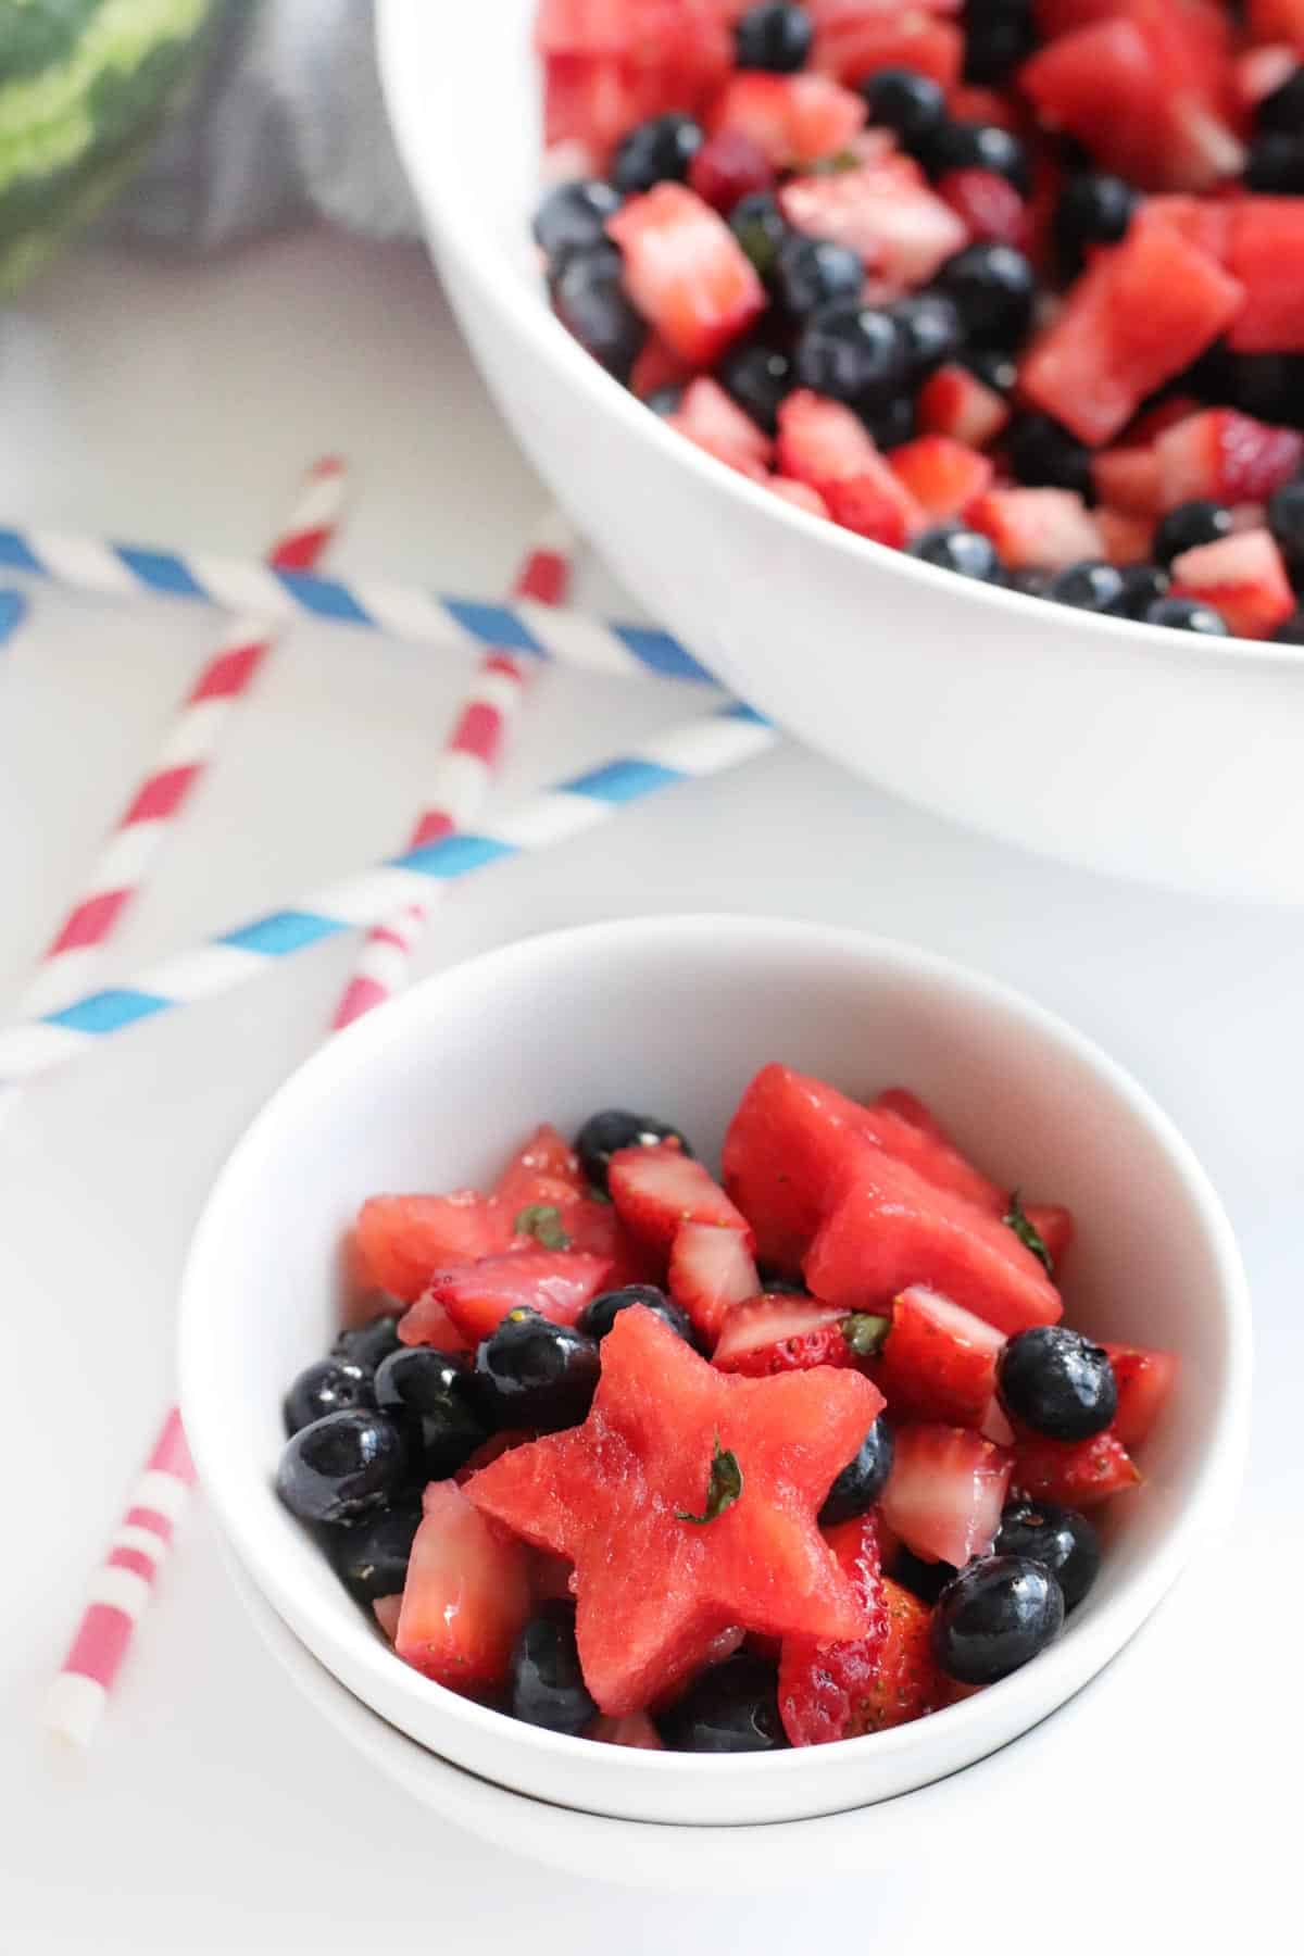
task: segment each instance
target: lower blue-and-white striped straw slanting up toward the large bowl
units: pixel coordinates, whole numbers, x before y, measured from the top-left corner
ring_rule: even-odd
[[[350,882],[223,931],[119,986],[0,1031],[0,1088],[20,1086],[160,1011],[227,992],[326,937],[366,929],[403,904],[428,900],[432,882],[457,882],[508,857],[551,849],[678,780],[737,767],[776,739],[768,720],[737,700],[655,734],[628,755],[543,788],[475,831],[389,857]]]

